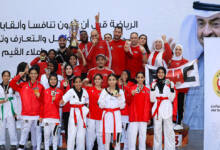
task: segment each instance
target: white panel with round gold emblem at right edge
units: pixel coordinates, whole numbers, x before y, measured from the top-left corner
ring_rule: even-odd
[[[220,149],[220,38],[205,39],[204,149]]]

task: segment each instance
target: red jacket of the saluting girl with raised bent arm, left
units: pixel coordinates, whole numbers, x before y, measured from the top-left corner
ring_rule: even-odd
[[[15,76],[11,82],[10,87],[18,91],[21,96],[22,112],[23,116],[40,116],[40,107],[44,96],[44,87],[39,81],[36,81],[33,85],[30,82],[22,82],[17,84],[21,77]],[[40,98],[37,98],[34,94],[34,88],[39,89]]]

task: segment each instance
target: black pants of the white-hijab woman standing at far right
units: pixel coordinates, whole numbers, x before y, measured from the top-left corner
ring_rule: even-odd
[[[185,93],[178,93],[177,124],[181,124],[181,121],[183,120],[184,103],[185,103]]]

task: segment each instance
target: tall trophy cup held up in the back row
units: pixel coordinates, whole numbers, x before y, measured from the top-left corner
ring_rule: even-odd
[[[78,42],[77,42],[77,38],[76,38],[78,30],[79,30],[79,24],[74,19],[74,21],[71,21],[71,23],[70,23],[70,37],[71,37],[70,47],[71,48],[78,49]]]

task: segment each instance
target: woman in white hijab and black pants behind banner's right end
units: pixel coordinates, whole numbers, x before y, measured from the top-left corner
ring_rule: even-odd
[[[169,68],[178,68],[186,63],[188,60],[183,58],[182,55],[183,46],[177,44],[174,48],[174,53],[171,62],[169,63]],[[178,89],[177,97],[178,97],[178,117],[177,117],[177,125],[174,127],[175,130],[183,129],[182,126],[182,119],[183,119],[183,112],[184,112],[184,103],[185,103],[185,94],[188,92],[188,88]]]

